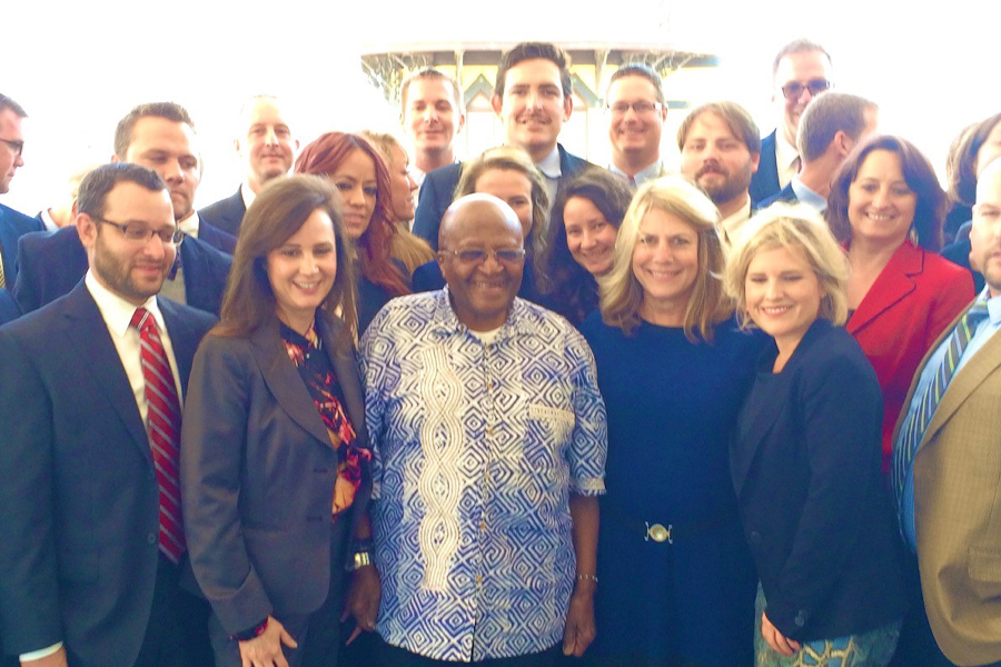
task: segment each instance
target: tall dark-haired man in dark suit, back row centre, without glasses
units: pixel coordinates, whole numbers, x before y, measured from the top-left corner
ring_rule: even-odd
[[[546,178],[549,202],[589,162],[566,152],[557,138],[574,109],[569,57],[546,42],[523,42],[500,56],[490,103],[504,123],[506,143],[524,148]],[[438,227],[452,203],[462,165],[427,175],[420,187],[414,233],[438,247]]]

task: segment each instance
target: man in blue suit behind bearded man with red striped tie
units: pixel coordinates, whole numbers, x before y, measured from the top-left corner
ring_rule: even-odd
[[[115,161],[141,165],[163,179],[177,226],[186,233],[161,296],[218,315],[231,262],[228,252],[236,239],[200,223],[191,207],[201,168],[188,112],[174,102],[136,107],[118,123]],[[22,312],[68,293],[87,271],[87,256],[75,227],[24,238],[18,261],[24,270],[13,296]]]

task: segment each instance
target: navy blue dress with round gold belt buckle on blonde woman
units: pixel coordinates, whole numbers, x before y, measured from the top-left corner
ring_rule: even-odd
[[[626,337],[595,311],[582,326],[608,411],[597,638],[604,665],[745,666],[756,576],[729,444],[765,337],[718,325],[711,344],[643,322]],[[647,525],[672,527],[670,541]]]

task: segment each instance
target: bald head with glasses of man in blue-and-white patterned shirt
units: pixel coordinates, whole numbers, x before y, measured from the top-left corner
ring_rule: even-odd
[[[442,218],[438,265],[456,317],[473,331],[507,319],[525,269],[523,233],[514,209],[493,195],[457,199]]]

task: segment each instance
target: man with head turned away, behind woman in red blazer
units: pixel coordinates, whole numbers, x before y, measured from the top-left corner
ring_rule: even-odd
[[[875,102],[846,92],[826,92],[811,102],[800,118],[796,136],[803,162],[800,172],[756,208],[801,201],[824,212],[834,175],[855,145],[876,130],[879,110]]]

